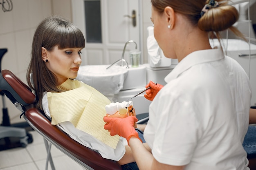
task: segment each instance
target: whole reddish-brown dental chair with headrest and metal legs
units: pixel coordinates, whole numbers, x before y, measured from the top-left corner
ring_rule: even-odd
[[[89,170],[121,170],[121,166],[116,161],[102,158],[98,152],[79,144],[57,126],[53,126],[44,113],[35,108],[36,97],[31,92],[31,89],[11,71],[1,71],[0,89],[14,106],[22,112],[20,117],[23,116],[27,123],[44,137],[47,149],[46,169],[49,162],[52,170],[55,170],[50,153],[51,145],[53,144]]]

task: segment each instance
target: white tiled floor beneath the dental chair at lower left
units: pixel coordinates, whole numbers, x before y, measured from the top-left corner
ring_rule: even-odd
[[[43,137],[36,131],[29,131],[33,142],[26,148],[0,151],[0,170],[45,170],[47,152]],[[51,149],[56,170],[86,170],[55,146]],[[48,170],[52,170],[48,165]]]

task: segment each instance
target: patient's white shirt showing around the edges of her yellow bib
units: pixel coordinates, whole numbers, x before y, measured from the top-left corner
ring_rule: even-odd
[[[47,100],[47,92],[44,93],[43,99],[42,99],[42,105],[43,110],[47,117],[51,119],[49,108],[48,108],[48,100]],[[103,117],[102,117],[103,119]],[[119,161],[125,154],[125,145],[127,144],[127,141],[125,138],[120,137],[120,140],[117,144],[116,149],[111,148],[110,146],[104,144],[103,142],[99,141],[92,135],[89,135],[86,132],[83,132],[82,130],[76,129],[74,125],[70,121],[65,121],[63,123],[57,124],[61,130],[63,130],[67,135],[69,135],[72,139],[79,142],[83,146],[86,146],[90,149],[93,149],[106,159],[112,159],[114,161]]]

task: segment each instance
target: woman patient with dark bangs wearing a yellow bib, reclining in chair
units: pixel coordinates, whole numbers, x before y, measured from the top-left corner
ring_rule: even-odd
[[[36,107],[45,112],[53,125],[102,157],[137,167],[129,156],[126,139],[112,137],[103,129],[105,106],[110,100],[75,80],[84,47],[83,33],[61,17],[45,18],[38,25],[27,70],[27,82],[37,99]]]

